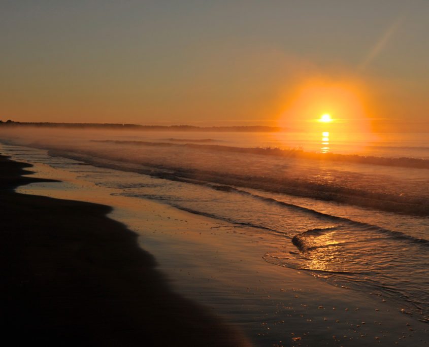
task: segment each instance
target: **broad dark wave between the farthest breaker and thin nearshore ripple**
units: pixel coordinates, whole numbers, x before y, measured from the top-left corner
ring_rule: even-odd
[[[138,142],[141,144],[141,142]],[[172,144],[155,144],[164,146]],[[174,146],[174,145],[173,145]],[[189,167],[178,167],[152,161],[136,161],[129,158],[110,157],[109,154],[90,151],[49,150],[51,156],[63,156],[85,161],[94,166],[109,167],[124,171],[144,173],[152,177],[194,184],[214,183],[215,189],[233,190],[234,187],[260,189],[268,192],[290,194],[326,201],[337,201],[382,211],[409,215],[429,216],[429,201],[425,196],[397,195],[383,191],[368,191],[352,187],[310,182],[288,177],[266,177],[263,175],[236,174]],[[269,199],[269,198],[266,198]]]

